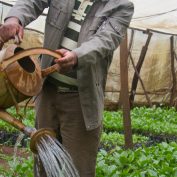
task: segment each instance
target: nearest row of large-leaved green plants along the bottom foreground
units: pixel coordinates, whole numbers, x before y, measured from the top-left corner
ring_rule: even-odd
[[[163,142],[151,147],[111,151],[100,149],[96,177],[175,177],[177,176],[177,143]],[[33,177],[33,158],[9,160],[10,169],[0,167],[0,177]]]

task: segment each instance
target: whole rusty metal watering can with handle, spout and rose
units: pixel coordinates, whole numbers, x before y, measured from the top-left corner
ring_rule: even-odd
[[[34,128],[27,127],[21,120],[7,113],[5,109],[17,106],[19,102],[37,95],[42,88],[43,78],[60,70],[58,64],[41,70],[38,61],[31,57],[39,54],[61,58],[59,53],[49,49],[24,50],[15,44],[0,51],[0,119],[30,136],[30,148],[34,153],[37,153],[36,142],[41,136],[45,134],[54,137],[55,133],[50,129],[36,131]]]

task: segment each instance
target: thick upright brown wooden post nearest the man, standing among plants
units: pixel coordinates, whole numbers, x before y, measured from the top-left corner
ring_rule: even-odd
[[[130,102],[128,90],[128,49],[127,35],[120,45],[120,82],[121,82],[121,105],[123,109],[123,125],[125,136],[125,148],[133,147],[131,118],[130,118]]]

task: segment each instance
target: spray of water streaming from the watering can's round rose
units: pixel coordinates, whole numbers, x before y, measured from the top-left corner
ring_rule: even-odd
[[[47,177],[79,177],[70,155],[57,139],[46,135],[36,146],[36,156],[42,162]]]

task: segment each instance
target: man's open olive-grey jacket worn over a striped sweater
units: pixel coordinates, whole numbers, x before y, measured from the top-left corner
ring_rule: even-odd
[[[49,7],[44,47],[55,50],[60,46],[74,3],[75,0],[20,0],[7,17],[16,16],[26,26]],[[134,6],[128,0],[95,0],[82,24],[74,52],[78,56],[78,88],[87,130],[101,124],[108,68],[133,11]],[[42,68],[50,66],[51,62],[51,57],[43,56]]]

